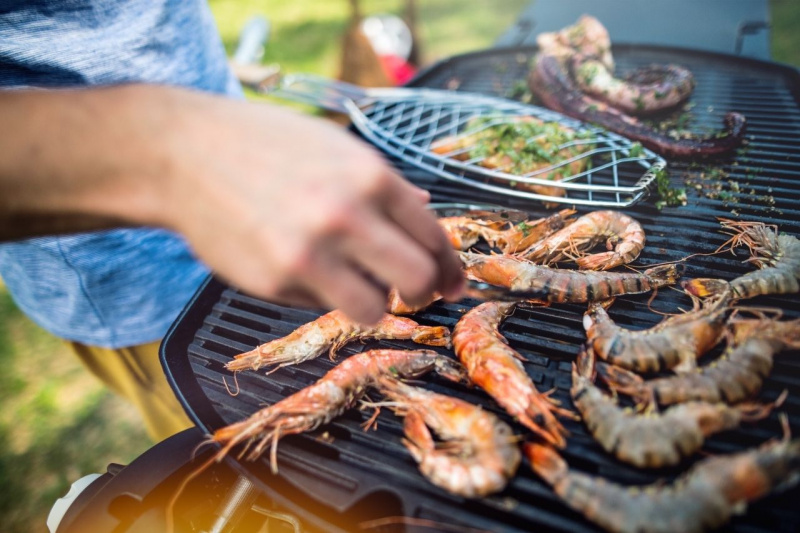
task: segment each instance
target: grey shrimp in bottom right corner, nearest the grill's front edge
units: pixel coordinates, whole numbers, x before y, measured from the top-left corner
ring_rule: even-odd
[[[752,501],[800,480],[800,440],[773,440],[711,457],[670,485],[622,486],[572,472],[554,450],[526,444],[533,470],[570,507],[618,533],[700,533],[726,523]]]

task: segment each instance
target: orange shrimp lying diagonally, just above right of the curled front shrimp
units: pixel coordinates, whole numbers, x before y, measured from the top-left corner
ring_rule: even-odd
[[[571,415],[536,390],[520,361],[498,328],[514,303],[486,302],[465,314],[453,330],[456,355],[470,380],[485,390],[510,415],[546,441],[566,445],[566,430],[554,413]]]

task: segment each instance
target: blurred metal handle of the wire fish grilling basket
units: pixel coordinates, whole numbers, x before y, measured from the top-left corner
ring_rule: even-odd
[[[367,96],[361,87],[313,74],[288,74],[262,86],[260,92],[302,104],[347,113],[352,105]]]

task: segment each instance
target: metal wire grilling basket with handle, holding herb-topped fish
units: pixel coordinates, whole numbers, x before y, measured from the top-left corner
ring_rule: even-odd
[[[434,89],[364,89],[318,76],[288,75],[259,90],[349,115],[370,142],[442,178],[503,195],[549,203],[627,207],[647,197],[664,159],[625,137],[532,105],[479,94]],[[545,134],[519,138],[502,163],[475,149],[473,140],[525,122],[555,126],[557,146]],[[540,149],[549,142],[547,150]],[[538,144],[537,144],[538,143]],[[515,161],[546,152],[537,165]],[[553,154],[556,157],[553,157]],[[510,157],[509,157],[510,156]],[[512,172],[511,167],[525,169]]]

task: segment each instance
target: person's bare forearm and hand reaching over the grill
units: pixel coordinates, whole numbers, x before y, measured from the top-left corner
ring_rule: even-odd
[[[0,239],[165,227],[250,293],[364,322],[386,286],[460,291],[426,193],[332,124],[145,85],[0,92],[0,117]]]

